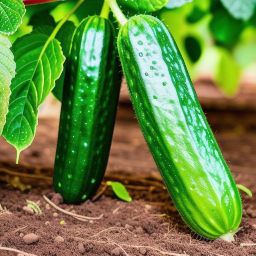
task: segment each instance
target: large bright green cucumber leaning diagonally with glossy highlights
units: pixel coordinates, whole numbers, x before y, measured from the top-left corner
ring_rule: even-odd
[[[209,239],[234,234],[241,197],[171,34],[138,15],[121,27],[117,47],[138,122],[182,218]]]

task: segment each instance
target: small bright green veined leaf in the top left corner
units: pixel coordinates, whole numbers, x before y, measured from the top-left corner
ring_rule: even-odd
[[[25,12],[22,0],[0,0],[0,32],[13,34],[22,23]]]

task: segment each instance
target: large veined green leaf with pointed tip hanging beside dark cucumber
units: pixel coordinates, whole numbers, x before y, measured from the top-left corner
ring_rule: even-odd
[[[17,74],[10,86],[9,112],[3,136],[17,150],[22,150],[35,136],[38,107],[55,86],[65,57],[60,43],[43,34],[28,34],[12,46]]]

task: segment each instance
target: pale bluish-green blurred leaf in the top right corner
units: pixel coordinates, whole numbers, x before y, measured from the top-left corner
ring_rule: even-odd
[[[220,0],[227,11],[236,19],[249,20],[255,10],[255,0]]]

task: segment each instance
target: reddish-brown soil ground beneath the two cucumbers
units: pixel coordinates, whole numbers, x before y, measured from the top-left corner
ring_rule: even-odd
[[[256,118],[254,109],[205,108],[241,192],[243,217],[235,241],[192,232],[173,205],[129,102],[120,103],[106,175],[91,200],[68,205],[52,187],[58,118],[41,117],[32,145],[15,164],[15,149],[0,137],[0,255],[248,256],[256,255]],[[132,202],[106,181],[123,183]],[[95,219],[77,219],[51,206]],[[41,213],[27,208],[35,202]],[[12,250],[12,251],[10,251]]]

